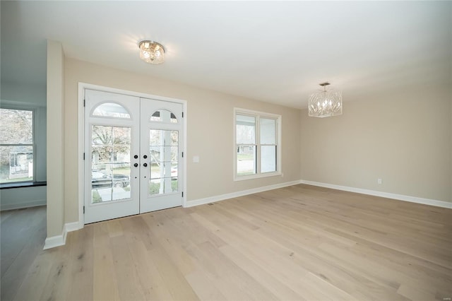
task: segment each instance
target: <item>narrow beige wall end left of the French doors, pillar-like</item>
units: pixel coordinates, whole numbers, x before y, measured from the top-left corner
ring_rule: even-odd
[[[47,238],[64,227],[64,53],[47,41]]]

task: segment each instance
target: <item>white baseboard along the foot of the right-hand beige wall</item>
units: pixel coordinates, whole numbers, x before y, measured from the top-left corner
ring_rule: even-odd
[[[383,192],[383,191],[340,186],[340,185],[327,184],[327,183],[321,183],[321,182],[313,182],[313,181],[307,181],[304,179],[300,180],[300,183],[313,185],[313,186],[319,186],[319,187],[325,187],[325,188],[331,188],[331,189],[338,189],[338,190],[343,190],[343,191],[356,192],[357,194],[369,194],[371,196],[381,196],[383,198],[396,199],[399,201],[409,201],[412,203],[422,203],[424,205],[437,206],[437,207],[442,207],[442,208],[452,208],[451,202],[437,201],[437,200],[433,200],[433,199],[423,199],[423,198],[418,198],[417,196],[405,196],[403,194],[391,194],[391,193]]]

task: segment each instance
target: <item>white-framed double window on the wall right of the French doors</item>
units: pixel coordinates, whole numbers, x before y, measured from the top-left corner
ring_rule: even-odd
[[[280,175],[281,116],[234,109],[234,179]]]

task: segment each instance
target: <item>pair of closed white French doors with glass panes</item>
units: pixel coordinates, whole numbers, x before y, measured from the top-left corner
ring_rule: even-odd
[[[85,90],[85,223],[182,206],[182,104]]]

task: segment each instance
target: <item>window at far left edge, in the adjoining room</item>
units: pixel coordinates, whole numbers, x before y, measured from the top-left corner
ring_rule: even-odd
[[[0,183],[33,181],[33,111],[0,109]]]

